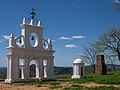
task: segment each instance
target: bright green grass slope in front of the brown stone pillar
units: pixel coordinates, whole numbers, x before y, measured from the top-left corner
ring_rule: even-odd
[[[74,83],[120,84],[120,72],[110,72],[107,75],[89,74],[83,78],[73,79],[71,81]]]

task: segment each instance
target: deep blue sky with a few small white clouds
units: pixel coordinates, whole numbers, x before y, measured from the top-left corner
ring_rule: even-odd
[[[0,67],[7,66],[9,35],[21,35],[20,24],[32,8],[44,26],[44,39],[53,41],[55,66],[72,66],[84,45],[120,24],[113,0],[0,0]]]

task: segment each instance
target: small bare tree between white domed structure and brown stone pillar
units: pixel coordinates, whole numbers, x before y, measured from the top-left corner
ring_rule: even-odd
[[[96,60],[96,49],[94,47],[90,46],[84,46],[83,52],[80,55],[80,58],[86,62],[87,64],[90,64],[93,68],[93,73],[95,73],[95,60]]]

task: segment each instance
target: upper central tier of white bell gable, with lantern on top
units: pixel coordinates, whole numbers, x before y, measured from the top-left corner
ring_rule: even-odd
[[[42,49],[43,47],[43,26],[41,22],[38,22],[38,25],[35,25],[35,12],[32,10],[31,14],[31,22],[27,24],[26,19],[23,19],[23,24],[21,24],[22,28],[22,36],[24,37],[24,47],[25,48],[32,48],[35,47],[36,49]],[[28,38],[29,37],[29,38]],[[30,39],[35,39],[34,45],[30,42]]]

